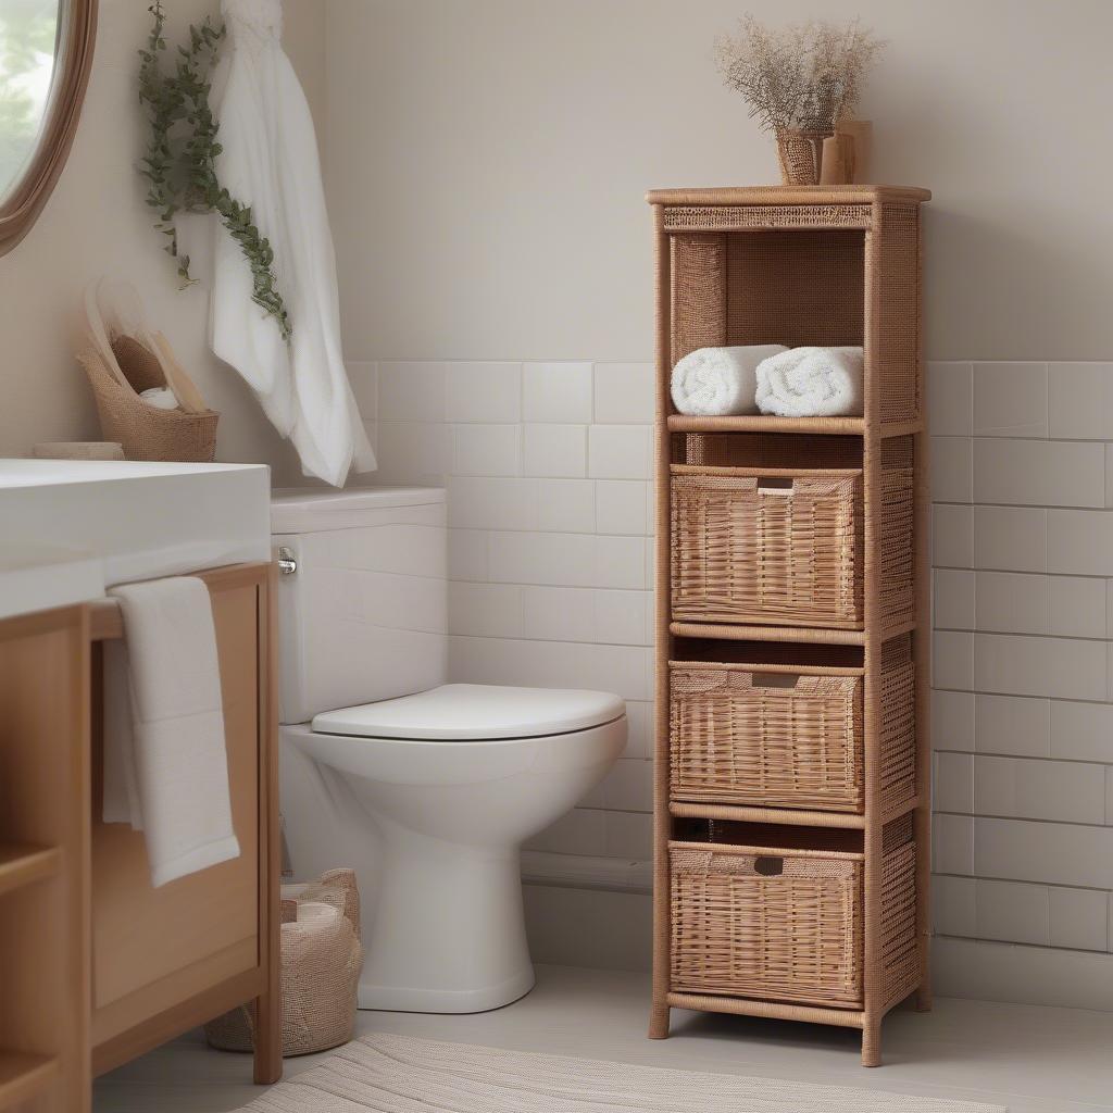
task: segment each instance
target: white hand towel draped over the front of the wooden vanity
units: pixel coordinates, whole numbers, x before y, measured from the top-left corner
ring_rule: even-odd
[[[239,857],[208,589],[179,577],[112,588],[125,643],[105,656],[105,823],[147,840],[151,885]]]

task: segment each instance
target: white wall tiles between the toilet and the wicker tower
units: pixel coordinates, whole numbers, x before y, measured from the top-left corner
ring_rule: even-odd
[[[647,860],[652,365],[349,370],[364,418],[377,425],[378,479],[447,487],[452,678],[604,688],[628,701],[622,758],[530,849]]]

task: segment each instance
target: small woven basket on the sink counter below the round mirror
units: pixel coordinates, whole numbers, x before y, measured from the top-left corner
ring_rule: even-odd
[[[148,405],[139,395],[167,385],[157,357],[128,336],[117,337],[112,352],[130,388],[108,370],[96,348],[78,356],[92,387],[105,440],[121,444],[128,460],[209,463],[216,455],[220,415],[213,410],[191,414]]]

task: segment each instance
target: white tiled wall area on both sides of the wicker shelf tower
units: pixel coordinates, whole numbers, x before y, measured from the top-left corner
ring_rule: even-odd
[[[453,678],[629,701],[622,759],[535,850],[650,855],[652,380],[353,368],[381,479],[449,490]],[[1095,958],[1113,948],[1113,363],[932,363],[927,397],[939,951]]]

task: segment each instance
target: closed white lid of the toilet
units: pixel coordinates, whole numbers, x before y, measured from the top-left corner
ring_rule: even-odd
[[[322,735],[436,741],[539,738],[613,722],[626,703],[610,692],[565,688],[444,684],[415,696],[325,711],[313,720]]]

